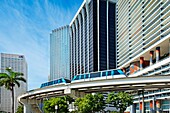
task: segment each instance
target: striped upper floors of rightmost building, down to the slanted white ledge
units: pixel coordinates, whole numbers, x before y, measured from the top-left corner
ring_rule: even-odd
[[[117,67],[129,71],[132,65],[140,68],[140,61],[145,67],[169,54],[169,4],[169,0],[118,0]]]

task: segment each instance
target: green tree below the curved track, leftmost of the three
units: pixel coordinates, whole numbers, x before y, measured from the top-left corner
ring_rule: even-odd
[[[44,101],[43,109],[46,113],[55,112],[55,106],[58,106],[57,113],[68,113],[68,103],[71,103],[73,99],[69,96],[51,98]]]

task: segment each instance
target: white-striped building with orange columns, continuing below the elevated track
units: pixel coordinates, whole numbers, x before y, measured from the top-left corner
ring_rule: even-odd
[[[128,76],[170,74],[169,4],[169,0],[118,0],[117,67]],[[131,113],[141,112],[142,106],[145,113],[170,112],[169,89],[138,90],[144,90],[144,103],[136,95]]]

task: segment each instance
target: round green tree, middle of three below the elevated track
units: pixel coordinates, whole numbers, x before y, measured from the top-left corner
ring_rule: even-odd
[[[78,98],[75,101],[79,113],[94,113],[102,111],[105,108],[104,96],[102,94],[87,94],[84,98]]]

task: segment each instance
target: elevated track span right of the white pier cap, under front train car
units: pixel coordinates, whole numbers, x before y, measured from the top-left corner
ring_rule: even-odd
[[[72,83],[70,88],[85,93],[140,90],[150,88],[170,88],[170,75],[140,76],[133,78],[86,81],[80,83]]]

